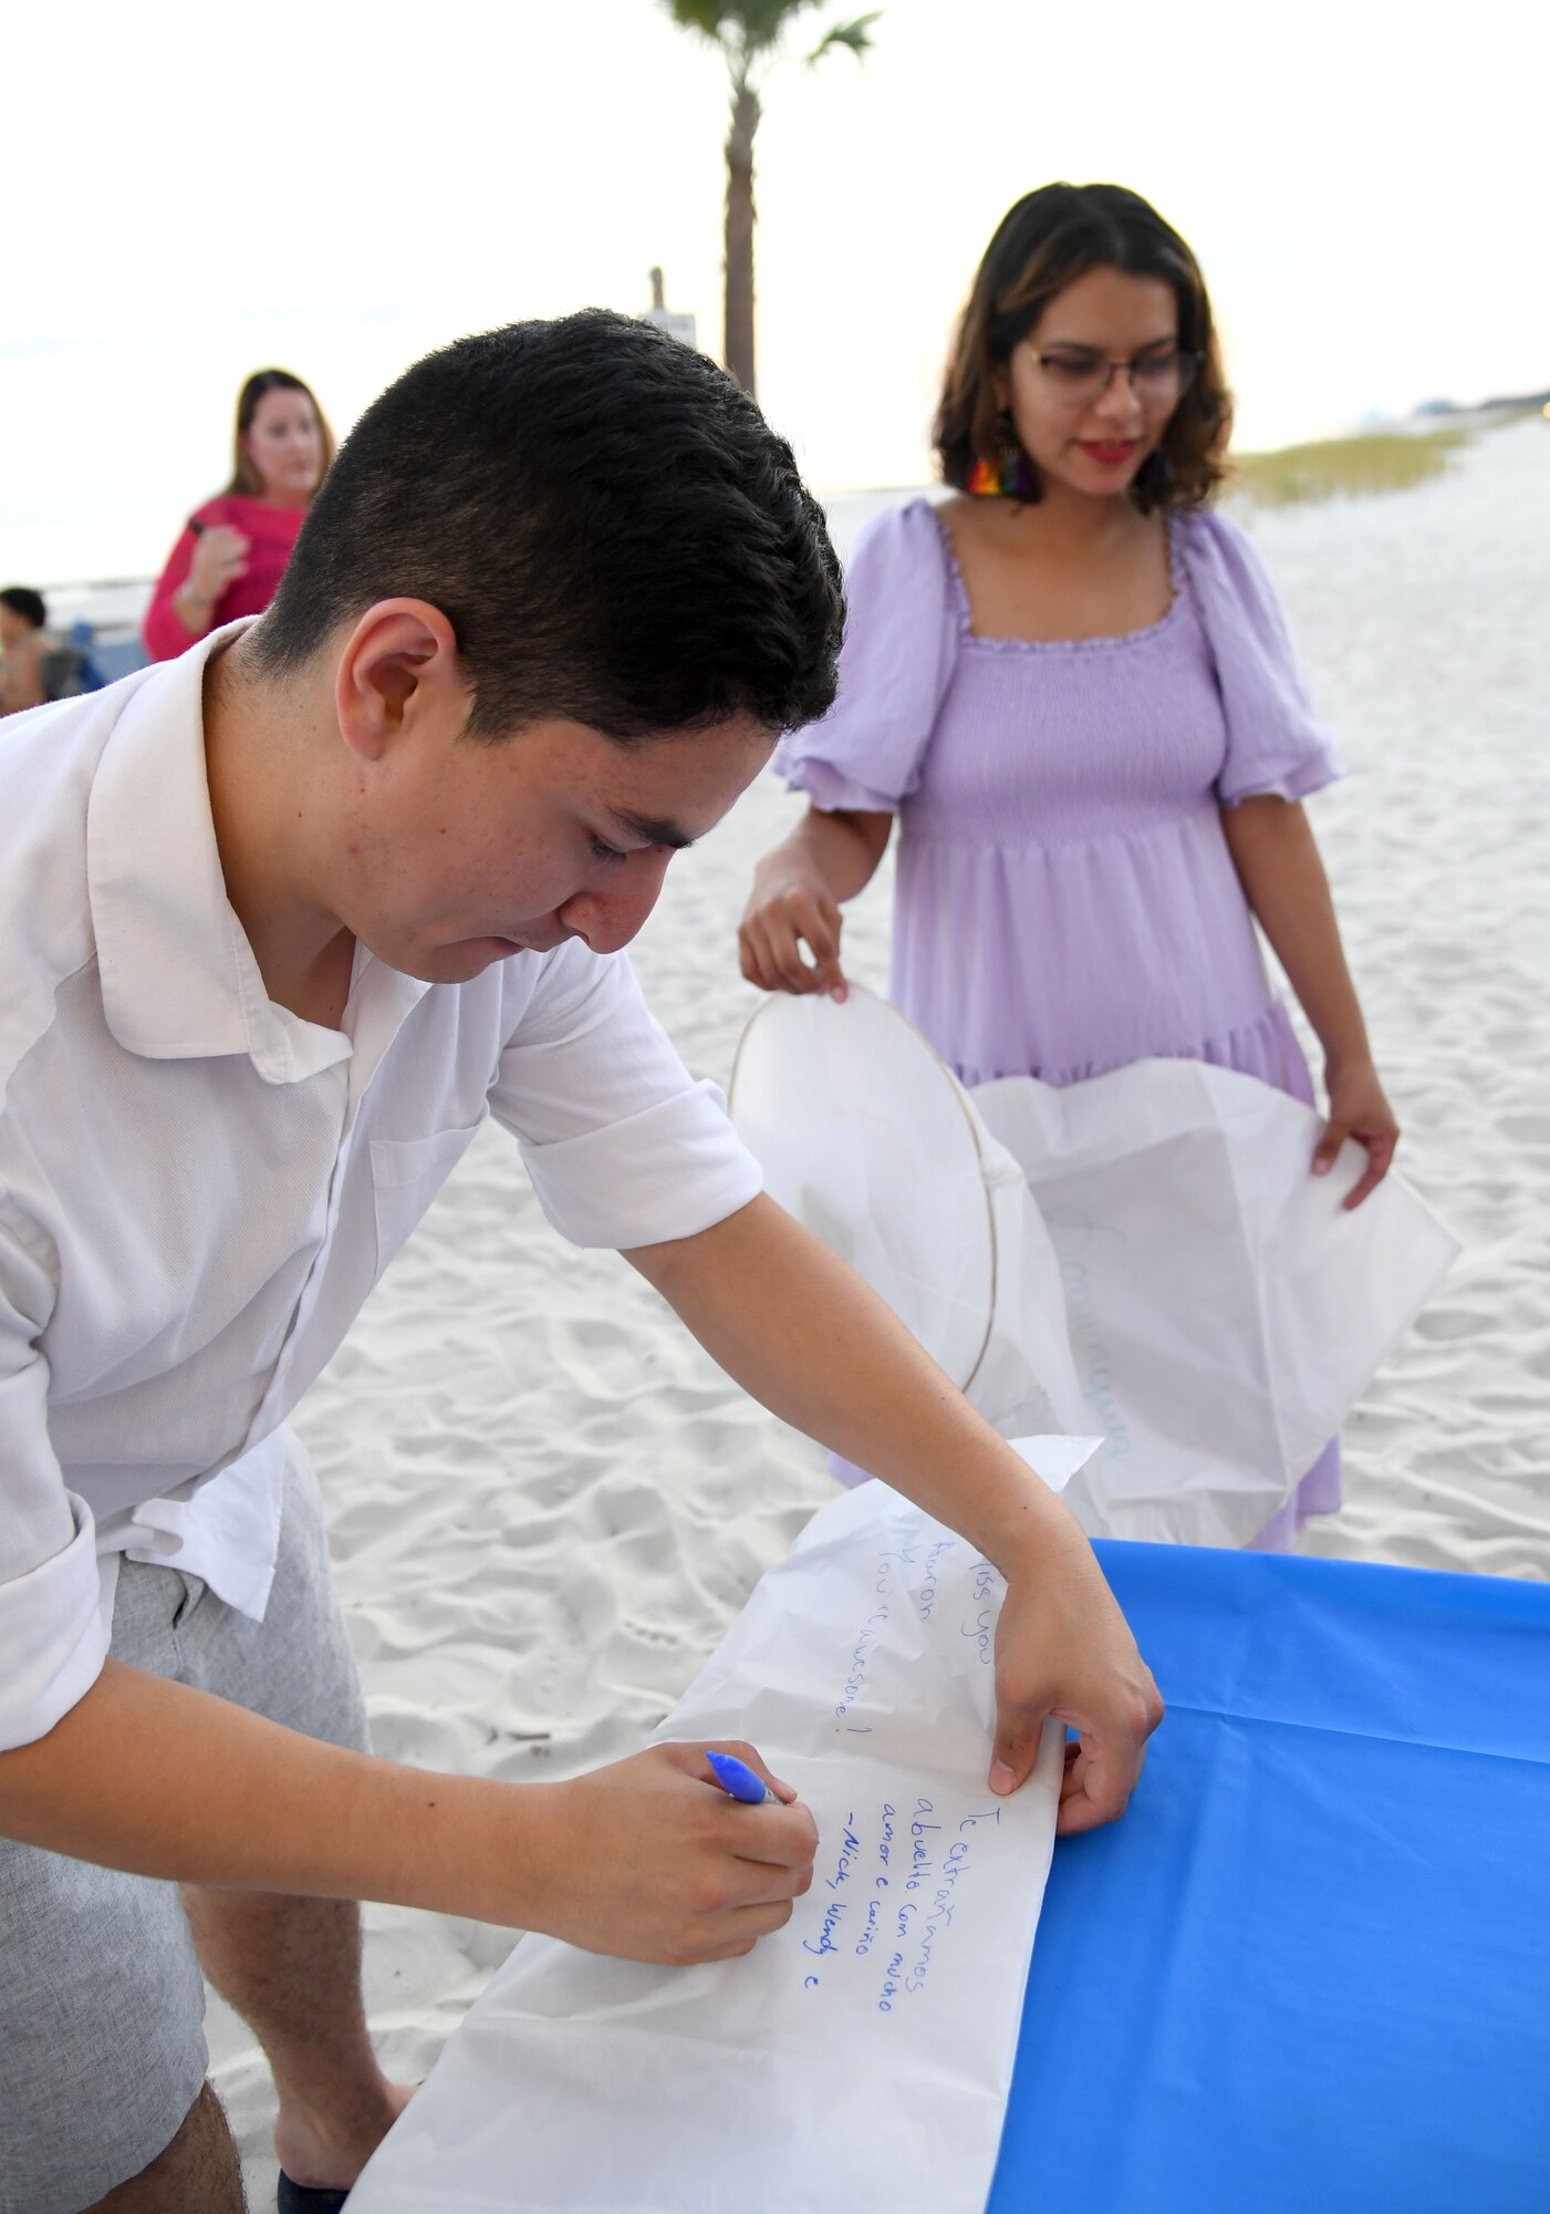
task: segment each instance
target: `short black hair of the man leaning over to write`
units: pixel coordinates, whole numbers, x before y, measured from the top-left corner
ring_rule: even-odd
[[[704,354],[600,308],[458,339],[368,407],[252,664],[392,598],[452,624],[472,737],[790,731],[835,697],[839,562],[790,447]]]

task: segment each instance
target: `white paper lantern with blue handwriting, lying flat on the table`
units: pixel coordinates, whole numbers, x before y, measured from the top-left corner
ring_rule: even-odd
[[[990,1791],[1001,1599],[881,1483],[815,1514],[660,1731],[751,1740],[813,1809],[790,1922],[698,1968],[525,1937],[352,2214],[983,2214],[1063,1738]]]

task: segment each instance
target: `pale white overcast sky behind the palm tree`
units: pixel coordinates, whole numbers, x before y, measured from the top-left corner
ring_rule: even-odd
[[[817,7],[810,46],[857,13]],[[760,133],[760,399],[822,489],[928,474],[1005,206],[1145,193],[1205,263],[1240,443],[1550,383],[1546,11],[890,0]],[[647,270],[720,350],[724,73],[658,0],[89,0],[7,38],[4,580],[155,569],[281,363],[339,430],[465,330]]]

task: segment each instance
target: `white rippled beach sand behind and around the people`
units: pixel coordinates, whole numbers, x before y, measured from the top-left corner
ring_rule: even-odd
[[[841,545],[877,498],[835,505]],[[1464,1240],[1346,1430],[1348,1499],[1304,1550],[1550,1574],[1550,425],[1446,476],[1244,511],[1348,777],[1311,806],[1399,1165]],[[726,1078],[755,994],[733,925],[795,801],[764,777],[673,863],[636,950],[689,1065]],[[848,919],[886,985],[890,888]],[[507,1780],[633,1751],[828,1497],[662,1302],[542,1220],[492,1125],[299,1413],[376,1749]],[[418,2077],[514,1933],[365,1911],[372,2028]],[[213,2001],[213,2075],[255,2205],[272,2092]]]

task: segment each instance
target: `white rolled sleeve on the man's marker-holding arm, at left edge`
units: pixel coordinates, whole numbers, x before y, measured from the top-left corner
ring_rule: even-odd
[[[0,1751],[46,1736],[106,1658],[91,1512],[49,1444],[38,1335],[51,1304],[46,1260],[0,1202]]]

